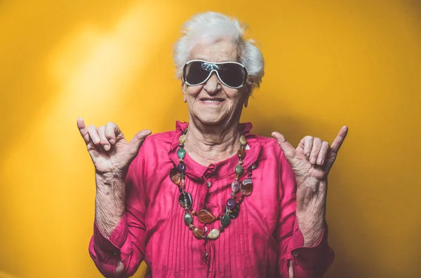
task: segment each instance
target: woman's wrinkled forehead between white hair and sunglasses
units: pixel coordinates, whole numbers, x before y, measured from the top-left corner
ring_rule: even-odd
[[[189,60],[239,62],[238,47],[229,39],[201,39],[194,43],[189,54]]]

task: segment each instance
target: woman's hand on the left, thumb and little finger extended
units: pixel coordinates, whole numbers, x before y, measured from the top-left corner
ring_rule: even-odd
[[[138,155],[143,141],[151,134],[150,130],[142,130],[128,142],[115,123],[107,123],[98,128],[95,125],[86,127],[83,118],[78,118],[77,127],[97,174],[112,174],[121,181],[125,179],[128,167]]]

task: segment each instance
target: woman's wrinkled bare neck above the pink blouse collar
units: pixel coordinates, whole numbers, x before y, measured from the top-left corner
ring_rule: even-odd
[[[232,157],[240,147],[239,122],[205,125],[191,120],[185,150],[201,165],[208,166]]]

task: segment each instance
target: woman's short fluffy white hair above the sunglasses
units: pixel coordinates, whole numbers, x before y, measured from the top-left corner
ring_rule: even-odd
[[[189,60],[190,51],[200,41],[209,42],[219,39],[230,39],[237,47],[239,61],[248,75],[253,78],[253,88],[258,88],[265,74],[265,61],[260,49],[253,39],[244,39],[247,25],[236,18],[229,18],[221,13],[206,12],[194,15],[182,25],[182,36],[174,46],[174,62],[177,67],[177,78],[181,78],[182,69]]]

